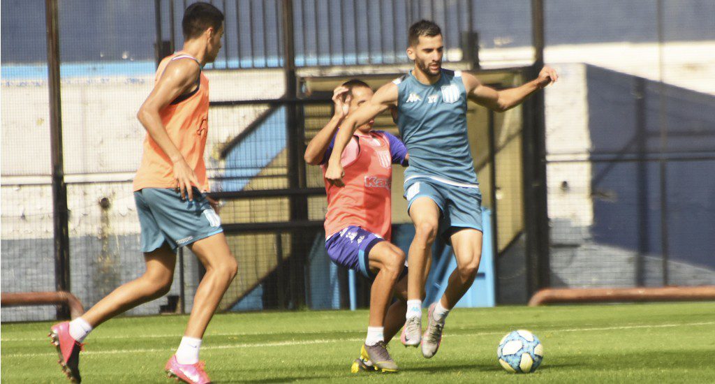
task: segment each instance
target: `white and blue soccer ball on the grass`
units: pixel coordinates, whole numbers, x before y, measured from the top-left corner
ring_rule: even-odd
[[[541,365],[543,345],[528,330],[515,330],[501,339],[497,355],[508,372],[531,373]]]

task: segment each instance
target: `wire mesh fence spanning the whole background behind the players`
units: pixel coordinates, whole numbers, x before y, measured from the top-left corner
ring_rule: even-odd
[[[59,2],[61,112],[69,206],[70,290],[85,306],[140,275],[131,179],[144,129],[135,114],[157,59],[182,46],[193,1]],[[545,0],[552,286],[713,283],[715,5],[709,1]],[[330,90],[361,77],[378,87],[404,73],[406,29],[433,19],[445,67],[490,69],[494,87],[528,80],[531,2],[292,1],[296,79],[286,79],[284,1],[212,1],[226,14],[211,82],[207,167],[238,277],[225,310],[336,308],[347,272],[323,247],[325,195],[300,164],[330,118]],[[2,292],[55,290],[44,1],[1,3]],[[507,68],[507,69],[504,69]],[[290,81],[298,85],[287,95]],[[498,302],[525,302],[530,257],[525,180],[528,104],[492,114],[470,104],[470,142],[493,214]],[[380,128],[395,132],[389,117]],[[393,172],[393,222],[410,227]],[[409,231],[405,232],[409,244]],[[167,299],[130,314],[191,309],[202,267],[182,255]],[[368,284],[359,280],[358,303]],[[3,321],[47,320],[51,307],[3,307]]]

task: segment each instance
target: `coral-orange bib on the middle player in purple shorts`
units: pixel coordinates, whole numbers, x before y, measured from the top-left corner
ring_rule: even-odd
[[[342,152],[345,187],[335,187],[325,179],[327,213],[325,238],[345,227],[356,225],[390,241],[392,230],[393,164],[390,142],[384,134],[355,134]],[[323,176],[327,167],[322,166]]]

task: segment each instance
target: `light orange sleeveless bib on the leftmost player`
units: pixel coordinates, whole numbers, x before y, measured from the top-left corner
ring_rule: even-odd
[[[167,56],[159,63],[154,84],[159,81],[164,69],[173,60],[197,61],[194,57],[181,52]],[[209,79],[203,72],[199,74],[198,84],[199,88],[195,92],[178,97],[159,111],[159,115],[162,117],[162,124],[167,129],[169,139],[179,149],[189,167],[194,169],[199,182],[199,185],[194,187],[208,191],[204,148],[209,127]],[[173,169],[171,159],[147,133],[144,139],[142,163],[139,164],[137,175],[134,177],[134,191],[142,188],[176,187]]]

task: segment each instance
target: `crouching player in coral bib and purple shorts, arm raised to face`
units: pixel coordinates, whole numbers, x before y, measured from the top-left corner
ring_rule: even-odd
[[[308,164],[321,164],[323,172],[332,152],[331,140],[347,114],[373,97],[373,90],[360,80],[337,87],[332,100],[335,114],[305,149]],[[405,253],[390,243],[392,226],[392,164],[406,165],[407,149],[388,132],[373,131],[373,122],[358,128],[342,164],[345,185],[325,183],[325,249],[335,264],[374,279],[370,290],[368,337],[352,373],[361,370],[395,372],[398,365],[385,344],[405,323],[407,274]],[[400,300],[390,305],[393,291]],[[389,305],[389,308],[388,308]]]

